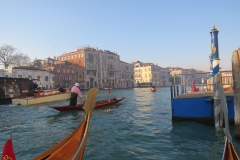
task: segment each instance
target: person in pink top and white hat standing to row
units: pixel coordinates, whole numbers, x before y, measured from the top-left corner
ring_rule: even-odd
[[[69,106],[77,106],[78,97],[80,101],[82,100],[82,92],[78,87],[79,87],[79,83],[75,83],[75,85],[71,88],[71,97],[70,97]]]

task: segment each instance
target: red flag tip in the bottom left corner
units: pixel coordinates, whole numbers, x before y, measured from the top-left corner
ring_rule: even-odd
[[[1,160],[16,160],[11,139],[7,140],[3,147]]]

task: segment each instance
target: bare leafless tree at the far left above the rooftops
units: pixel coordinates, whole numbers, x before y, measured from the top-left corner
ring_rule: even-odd
[[[0,64],[4,65],[5,69],[8,69],[10,65],[22,66],[31,61],[28,55],[15,52],[16,48],[11,45],[0,47]]]

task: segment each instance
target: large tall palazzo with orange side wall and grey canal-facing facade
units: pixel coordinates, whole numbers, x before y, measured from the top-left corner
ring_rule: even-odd
[[[133,69],[131,72],[131,67],[128,67],[131,64],[120,61],[120,56],[116,52],[84,47],[64,53],[58,57],[58,60],[68,61],[84,68],[83,84],[86,89],[133,87],[131,84],[133,78],[132,80],[128,78],[131,74],[133,77]]]

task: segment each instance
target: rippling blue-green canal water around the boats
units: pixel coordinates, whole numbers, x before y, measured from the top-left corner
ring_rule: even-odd
[[[83,91],[86,95],[87,91]],[[126,98],[114,106],[94,110],[90,123],[84,159],[221,159],[224,133],[214,126],[171,119],[170,88],[100,90],[97,100]],[[70,134],[82,121],[83,111],[58,112],[49,105],[65,105],[69,101],[35,106],[0,106],[0,147],[9,135],[18,160],[30,160]],[[194,105],[194,104],[193,104]],[[240,141],[234,138],[240,155]]]

